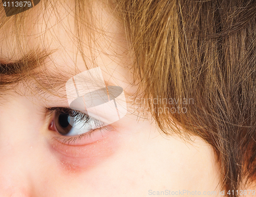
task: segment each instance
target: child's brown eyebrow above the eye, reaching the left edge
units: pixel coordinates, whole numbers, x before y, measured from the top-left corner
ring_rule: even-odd
[[[18,60],[5,60],[0,62],[0,87],[17,84],[25,81],[26,86],[38,94],[50,93],[60,97],[66,97],[66,82],[76,74],[73,70],[60,71],[49,69],[47,58],[56,50],[47,52],[46,49],[30,51]],[[3,58],[2,58],[3,59]],[[53,61],[52,61],[53,62]],[[110,81],[105,81],[106,86],[117,86]],[[126,95],[130,95],[123,90]]]

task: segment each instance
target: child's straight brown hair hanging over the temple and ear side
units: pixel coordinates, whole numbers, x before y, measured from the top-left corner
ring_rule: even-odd
[[[76,8],[81,2],[86,1],[75,1]],[[108,4],[122,21],[135,56],[135,80],[140,81],[142,99],[162,132],[196,135],[210,144],[226,190],[255,181],[255,1],[113,0]],[[8,75],[3,70],[1,65],[2,75]],[[193,99],[193,103],[161,102],[170,98]],[[185,113],[173,111],[184,107]],[[160,108],[167,111],[159,112]],[[176,124],[183,129],[174,129]]]

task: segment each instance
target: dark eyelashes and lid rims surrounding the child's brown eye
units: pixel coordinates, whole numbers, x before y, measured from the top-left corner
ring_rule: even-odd
[[[101,121],[99,121],[95,118],[92,118],[92,117],[90,117],[87,114],[84,114],[82,112],[72,110],[71,108],[68,108],[68,107],[49,107],[49,108],[46,107],[45,111],[46,111],[46,114],[47,114],[48,117],[51,117],[55,112],[57,112],[57,113],[66,113],[66,114],[69,114],[71,117],[77,117],[77,119],[76,119],[77,121],[84,121],[84,124],[86,124],[90,121],[93,121],[95,123],[95,125],[98,127],[98,128],[90,130],[90,132],[81,134],[81,135],[76,136],[76,137],[61,136],[60,134],[58,136],[54,136],[54,139],[60,141],[63,144],[68,144],[69,145],[72,142],[74,143],[77,139],[81,140],[82,137],[92,138],[91,134],[93,134],[96,130],[99,130],[99,132],[101,132],[101,133],[102,133],[103,129],[110,131],[110,127],[106,126],[106,125],[102,125]],[[58,133],[58,132],[56,132],[56,133]]]

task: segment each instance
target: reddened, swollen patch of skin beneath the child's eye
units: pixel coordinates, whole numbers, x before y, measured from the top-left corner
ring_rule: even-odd
[[[67,145],[50,140],[49,148],[63,172],[81,173],[109,160],[119,149],[119,139],[117,132],[110,132],[104,139],[86,145]]]

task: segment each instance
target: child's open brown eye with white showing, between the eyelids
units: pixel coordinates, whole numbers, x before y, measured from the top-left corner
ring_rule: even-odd
[[[104,123],[70,108],[52,108],[53,120],[50,128],[62,136],[76,136],[104,126]]]

